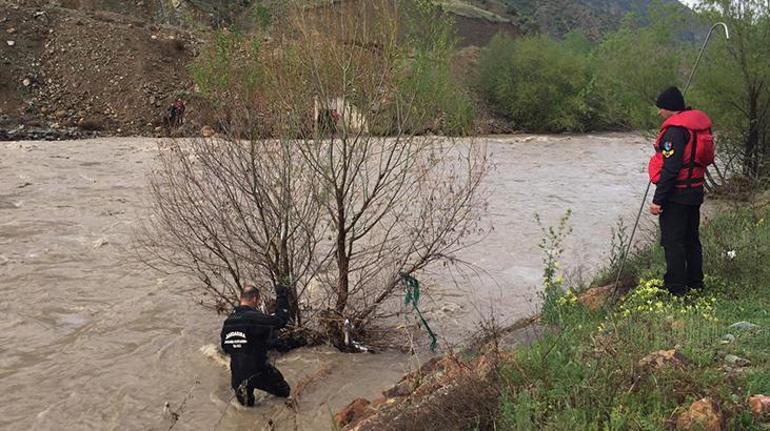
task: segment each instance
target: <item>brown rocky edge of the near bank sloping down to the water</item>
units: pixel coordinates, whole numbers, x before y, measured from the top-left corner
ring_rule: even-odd
[[[598,310],[610,297],[611,287],[588,289],[578,301]],[[487,328],[463,352],[430,359],[383,391],[382,397],[351,401],[334,416],[335,425],[344,431],[492,429],[501,396],[500,367],[545,330],[539,315],[506,328]],[[480,423],[480,418],[489,423]]]

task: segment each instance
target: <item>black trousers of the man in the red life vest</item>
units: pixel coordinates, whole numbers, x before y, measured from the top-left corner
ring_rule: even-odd
[[[660,214],[660,239],[666,252],[664,285],[673,295],[703,287],[700,205],[667,203]]]

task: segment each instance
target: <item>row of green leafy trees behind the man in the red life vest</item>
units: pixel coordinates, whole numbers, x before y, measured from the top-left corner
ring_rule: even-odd
[[[574,34],[499,35],[479,60],[479,90],[524,130],[654,129],[655,97],[670,85],[684,87],[706,31],[725,22],[732,38],[712,39],[687,99],[713,117],[733,173],[761,180],[770,148],[768,3],[707,0],[690,12],[654,3],[648,15],[628,15],[593,45]]]

